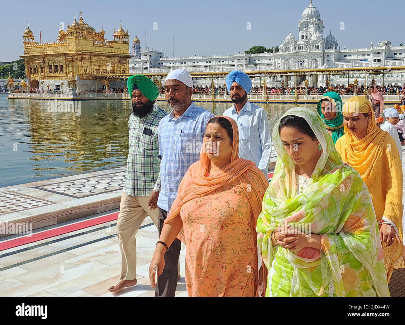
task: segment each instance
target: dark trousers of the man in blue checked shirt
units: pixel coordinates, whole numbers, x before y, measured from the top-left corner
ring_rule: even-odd
[[[159,209],[159,237],[162,233],[163,222],[167,218],[167,211]],[[177,287],[177,264],[179,263],[179,256],[181,250],[181,242],[175,239],[171,244],[169,250],[164,254],[164,269],[160,276],[155,289],[155,297],[174,297]]]

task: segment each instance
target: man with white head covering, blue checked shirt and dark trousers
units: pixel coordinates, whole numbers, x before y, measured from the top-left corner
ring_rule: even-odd
[[[164,81],[164,94],[172,108],[159,123],[159,154],[162,156],[160,173],[149,199],[151,209],[159,210],[159,237],[173,201],[177,197],[180,181],[188,167],[200,160],[201,145],[208,120],[213,113],[196,106],[191,101],[193,80],[185,70],[169,73]],[[159,194],[160,190],[160,194]],[[174,297],[178,280],[178,261],[181,242],[175,239],[168,247],[158,242],[156,252],[164,254],[164,269],[158,276],[155,297]],[[154,265],[149,268],[153,269]]]

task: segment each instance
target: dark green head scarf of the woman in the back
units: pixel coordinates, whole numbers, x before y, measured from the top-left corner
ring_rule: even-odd
[[[322,100],[327,99],[335,105],[336,107],[336,116],[333,120],[326,120],[324,115],[321,111],[321,102]],[[343,115],[342,115],[342,98],[336,92],[327,92],[318,102],[316,110],[318,111],[319,115],[321,115],[322,120],[328,130],[332,132],[332,139],[333,143],[336,143],[337,139],[339,139],[342,135],[345,134],[343,129]]]

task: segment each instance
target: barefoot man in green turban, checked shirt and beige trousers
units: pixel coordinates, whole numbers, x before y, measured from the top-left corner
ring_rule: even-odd
[[[135,75],[128,78],[128,92],[133,112],[128,121],[129,152],[124,192],[117,221],[119,248],[121,250],[121,277],[109,292],[118,292],[136,284],[136,238],[143,220],[149,216],[158,227],[159,211],[156,203],[160,188],[149,196],[158,180],[160,161],[158,125],[167,113],[154,100],[159,90],[149,78]],[[150,206],[149,206],[150,205]]]

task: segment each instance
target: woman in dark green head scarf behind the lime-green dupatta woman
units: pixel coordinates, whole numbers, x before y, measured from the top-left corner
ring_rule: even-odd
[[[342,135],[343,115],[342,115],[342,98],[336,92],[327,92],[322,96],[316,107],[322,121],[324,121],[326,130],[332,136],[333,143],[336,143]]]

